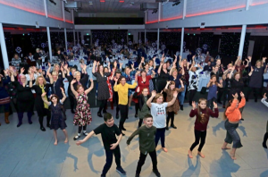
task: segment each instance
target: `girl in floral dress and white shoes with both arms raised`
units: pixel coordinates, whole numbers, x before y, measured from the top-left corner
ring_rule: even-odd
[[[91,91],[91,89],[94,88],[94,82],[92,79],[90,88],[84,90],[83,86],[81,84],[78,84],[77,90],[73,89],[73,84],[77,80],[71,80],[71,91],[74,95],[74,97],[77,99],[77,106],[75,110],[75,114],[73,117],[73,124],[79,125],[79,131],[78,135],[73,138],[73,140],[79,139],[80,138],[80,133],[82,131],[83,127],[83,134],[85,136],[88,135],[87,133],[87,124],[89,125],[90,122],[92,121],[91,118],[91,112],[88,104],[88,93]]]

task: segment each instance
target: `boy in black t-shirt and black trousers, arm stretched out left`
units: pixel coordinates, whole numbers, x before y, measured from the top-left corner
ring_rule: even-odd
[[[126,172],[121,167],[121,159],[120,159],[121,153],[120,153],[119,143],[122,137],[121,131],[114,124],[112,114],[106,113],[104,115],[104,119],[105,119],[105,123],[98,126],[94,131],[91,131],[85,139],[79,140],[76,144],[80,145],[86,142],[94,134],[96,135],[101,134],[103,143],[105,146],[105,154],[106,154],[106,164],[104,166],[104,170],[103,170],[103,173],[101,174],[101,177],[105,177],[106,173],[111,168],[112,163],[113,163],[113,155],[115,157],[115,163],[117,165],[116,171],[118,173],[125,175]],[[115,134],[118,136],[118,139],[115,138]]]

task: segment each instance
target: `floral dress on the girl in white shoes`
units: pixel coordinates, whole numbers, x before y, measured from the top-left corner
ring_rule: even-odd
[[[88,104],[88,96],[84,93],[78,94],[77,106],[73,118],[73,124],[79,126],[85,126],[92,122],[91,112]]]

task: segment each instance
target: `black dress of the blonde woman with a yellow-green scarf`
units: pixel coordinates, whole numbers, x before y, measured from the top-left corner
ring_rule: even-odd
[[[52,84],[48,84],[48,83],[45,85],[44,89],[45,89],[46,93],[51,86],[52,86]],[[44,116],[46,116],[47,110],[44,106],[44,102],[42,99],[42,89],[38,85],[32,86],[32,89],[34,89],[36,91],[36,94],[37,94],[37,97],[35,100],[35,106],[36,106],[36,110],[38,112],[38,117],[44,117]]]

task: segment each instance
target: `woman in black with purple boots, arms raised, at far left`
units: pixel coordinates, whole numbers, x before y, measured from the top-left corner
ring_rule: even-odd
[[[28,122],[29,124],[32,124],[31,116],[33,112],[34,97],[31,92],[31,88],[32,88],[32,81],[34,80],[34,74],[31,73],[29,77],[29,82],[24,74],[20,75],[20,82],[15,81],[13,72],[11,74],[12,74],[11,81],[17,88],[17,105],[18,105],[18,119],[19,119],[17,127],[20,127],[22,124],[22,118],[24,112],[27,112]]]

